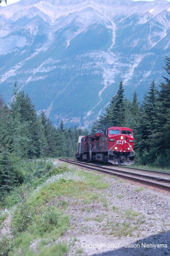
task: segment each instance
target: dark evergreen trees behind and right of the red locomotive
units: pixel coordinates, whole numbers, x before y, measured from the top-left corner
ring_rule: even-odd
[[[170,58],[165,71],[170,76]],[[123,83],[111,99],[104,115],[92,126],[92,133],[110,126],[125,126],[134,130],[137,164],[170,167],[170,79],[164,77],[159,90],[153,81],[142,104],[136,92],[130,102],[124,97]]]

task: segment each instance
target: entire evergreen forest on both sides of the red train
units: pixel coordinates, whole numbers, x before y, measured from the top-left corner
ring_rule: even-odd
[[[170,58],[165,59],[164,83],[153,81],[141,104],[137,93],[133,100],[124,96],[123,83],[113,95],[105,113],[94,122],[92,130],[59,127],[42,112],[40,116],[28,95],[17,91],[10,106],[0,98],[0,205],[10,191],[23,183],[35,182],[45,175],[48,162],[41,160],[33,166],[30,160],[74,157],[78,136],[104,131],[110,126],[132,128],[135,137],[135,164],[170,168]],[[49,164],[50,165],[50,164]],[[34,171],[33,171],[34,168]],[[34,177],[32,177],[32,176]]]

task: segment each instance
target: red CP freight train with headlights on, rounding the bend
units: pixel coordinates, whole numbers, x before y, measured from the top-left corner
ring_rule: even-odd
[[[110,127],[104,133],[79,136],[78,160],[98,161],[111,164],[132,164],[133,131],[126,127]]]

